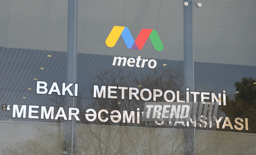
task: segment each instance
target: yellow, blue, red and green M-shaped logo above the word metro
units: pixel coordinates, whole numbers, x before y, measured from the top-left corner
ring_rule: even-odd
[[[114,45],[116,45],[116,42],[119,39],[120,35],[122,36],[122,38],[126,44],[126,47],[128,49],[141,50],[148,38],[150,39],[150,41],[156,51],[162,51],[164,49],[164,45],[163,45],[159,35],[157,34],[156,30],[142,29],[140,31],[140,33],[138,34],[137,39],[134,41],[128,27],[123,27],[123,26],[114,26],[113,27],[109,36],[106,39],[106,45],[108,47],[114,47]]]

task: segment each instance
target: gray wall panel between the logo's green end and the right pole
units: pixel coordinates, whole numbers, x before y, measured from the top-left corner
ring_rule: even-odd
[[[153,58],[183,61],[183,2],[161,0],[157,33],[164,44],[161,52],[153,49]]]

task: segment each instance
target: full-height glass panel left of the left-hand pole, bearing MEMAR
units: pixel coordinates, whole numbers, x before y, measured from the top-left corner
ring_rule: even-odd
[[[0,0],[2,154],[61,154],[71,148],[72,128],[65,121],[70,97],[67,91],[61,95],[67,83],[67,6],[62,0]]]

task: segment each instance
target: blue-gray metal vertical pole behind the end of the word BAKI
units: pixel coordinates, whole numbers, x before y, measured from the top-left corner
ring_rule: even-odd
[[[67,18],[67,84],[76,83],[77,66],[77,0],[68,0]],[[73,88],[74,89],[74,86]],[[73,91],[74,92],[74,91]],[[75,97],[67,96],[66,107],[75,107]],[[66,152],[74,153],[75,144],[75,122],[67,121],[65,125]]]

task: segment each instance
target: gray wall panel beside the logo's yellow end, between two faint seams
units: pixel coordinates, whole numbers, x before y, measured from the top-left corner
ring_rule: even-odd
[[[117,55],[118,46],[109,48],[105,41],[113,26],[121,25],[124,2],[88,1],[82,53]]]

